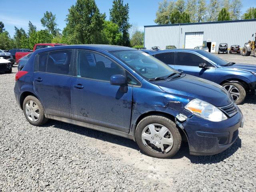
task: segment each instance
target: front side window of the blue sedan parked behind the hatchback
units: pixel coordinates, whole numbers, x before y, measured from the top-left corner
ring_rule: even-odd
[[[212,65],[201,58],[200,56],[188,53],[188,52],[178,52],[177,53],[177,63],[176,65],[184,65],[184,66],[194,66],[198,67],[200,63],[206,63],[207,66],[211,67]]]

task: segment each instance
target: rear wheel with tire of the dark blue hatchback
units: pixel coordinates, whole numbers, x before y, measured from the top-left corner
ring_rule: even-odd
[[[27,96],[23,101],[23,112],[28,122],[40,126],[47,122],[41,102],[34,96]]]

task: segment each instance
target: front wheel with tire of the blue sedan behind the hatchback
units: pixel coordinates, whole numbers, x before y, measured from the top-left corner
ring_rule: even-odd
[[[228,82],[222,84],[222,86],[231,94],[234,102],[240,104],[246,97],[246,91],[243,84],[239,82]]]

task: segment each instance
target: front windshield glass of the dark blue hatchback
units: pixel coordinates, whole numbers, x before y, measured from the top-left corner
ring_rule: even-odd
[[[139,50],[113,51],[112,54],[147,79],[164,78],[176,73],[160,60]]]

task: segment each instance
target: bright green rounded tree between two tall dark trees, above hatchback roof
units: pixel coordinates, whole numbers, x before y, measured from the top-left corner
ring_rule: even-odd
[[[122,33],[119,31],[118,25],[111,21],[104,21],[103,27],[102,43],[117,45],[122,39]]]

